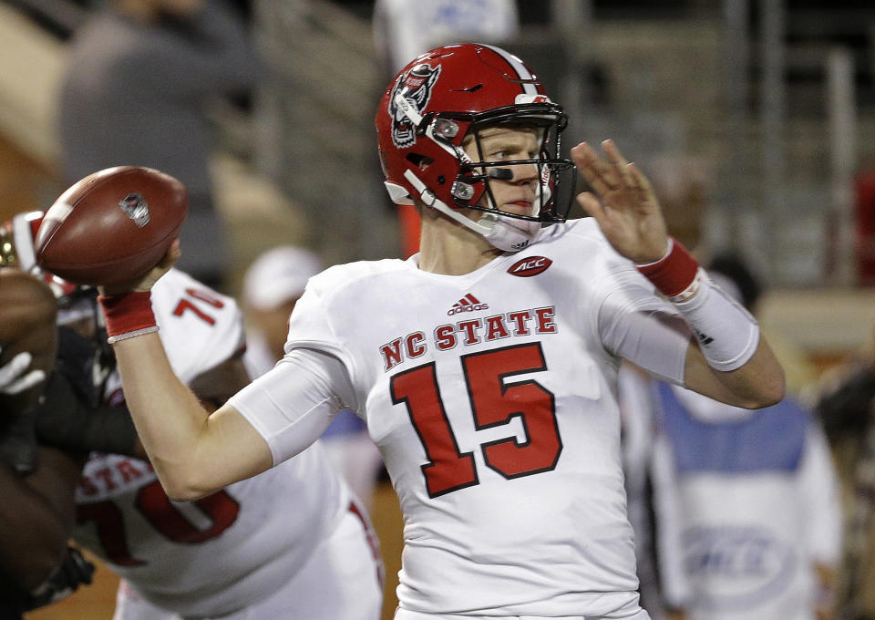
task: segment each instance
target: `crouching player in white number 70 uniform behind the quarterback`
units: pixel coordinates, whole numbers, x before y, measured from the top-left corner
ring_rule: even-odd
[[[34,222],[39,215],[16,218]],[[17,246],[32,247],[36,226],[16,230]],[[36,270],[32,258],[18,266]],[[53,283],[66,287],[58,324],[75,334],[66,337],[78,337],[78,346],[105,340],[97,291]],[[218,407],[249,381],[238,306],[178,270],[153,292],[176,376],[205,407]],[[73,539],[123,578],[116,620],[379,617],[376,536],[319,446],[264,476],[196,501],[170,501],[136,436],[105,436],[108,425],[118,429],[129,420],[126,394],[111,356],[95,346],[91,362],[99,405],[69,407],[74,395],[56,391],[40,408],[36,429],[41,440],[65,449],[108,450],[91,452],[82,470]]]

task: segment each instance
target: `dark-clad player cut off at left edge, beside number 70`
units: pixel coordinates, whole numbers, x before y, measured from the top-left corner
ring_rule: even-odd
[[[17,620],[88,583],[67,550],[82,460],[36,443],[34,409],[55,365],[55,296],[14,268],[0,226],[0,618]]]

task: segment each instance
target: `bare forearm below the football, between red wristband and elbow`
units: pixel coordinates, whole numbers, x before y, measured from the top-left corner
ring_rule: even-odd
[[[113,345],[139,438],[172,498],[204,485],[198,456],[209,414],[173,373],[157,333]]]

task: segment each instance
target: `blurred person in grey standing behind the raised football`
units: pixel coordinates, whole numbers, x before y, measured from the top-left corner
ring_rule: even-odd
[[[67,183],[110,166],[167,172],[189,191],[180,268],[224,284],[230,254],[212,200],[210,105],[245,92],[258,61],[223,0],[108,0],[73,37],[60,96]]]

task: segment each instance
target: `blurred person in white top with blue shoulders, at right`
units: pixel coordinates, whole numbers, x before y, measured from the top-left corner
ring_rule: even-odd
[[[755,311],[761,289],[743,261],[718,255],[708,273]],[[687,620],[833,618],[842,513],[818,418],[789,397],[754,412],[631,367],[621,374],[625,438],[648,460],[628,483],[639,562],[651,566],[642,573],[659,582],[643,580],[651,609]]]

